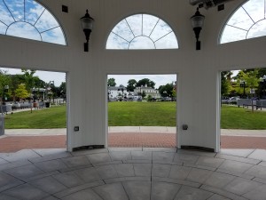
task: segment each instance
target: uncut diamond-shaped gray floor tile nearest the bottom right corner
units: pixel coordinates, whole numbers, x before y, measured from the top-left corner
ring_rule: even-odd
[[[235,180],[232,180],[231,183],[226,185],[224,189],[230,191],[231,193],[241,196],[246,192],[253,190],[254,188],[260,187],[261,185],[262,185],[261,183],[252,180],[236,178]]]

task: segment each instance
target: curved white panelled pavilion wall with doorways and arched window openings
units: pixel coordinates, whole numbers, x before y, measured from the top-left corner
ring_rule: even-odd
[[[106,76],[108,74],[178,75],[178,147],[199,146],[219,151],[219,72],[226,69],[264,67],[266,37],[217,44],[223,23],[243,1],[200,12],[206,16],[200,33],[201,50],[195,50],[190,18],[196,8],[176,0],[79,0],[45,1],[66,33],[68,46],[43,44],[0,36],[0,65],[67,72],[68,150],[106,145]],[[61,12],[61,4],[69,12]],[[90,52],[83,52],[79,19],[89,9],[95,19]],[[166,20],[176,33],[179,49],[156,51],[106,50],[106,39],[115,24],[139,12]],[[189,129],[183,131],[182,124]],[[74,125],[80,132],[74,132]]]

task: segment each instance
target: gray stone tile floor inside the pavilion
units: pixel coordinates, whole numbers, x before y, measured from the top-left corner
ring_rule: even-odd
[[[266,150],[0,153],[0,200],[265,200]]]

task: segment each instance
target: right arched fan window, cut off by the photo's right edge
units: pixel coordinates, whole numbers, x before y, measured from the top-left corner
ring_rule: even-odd
[[[249,0],[231,15],[223,28],[220,43],[266,36],[265,0]]]

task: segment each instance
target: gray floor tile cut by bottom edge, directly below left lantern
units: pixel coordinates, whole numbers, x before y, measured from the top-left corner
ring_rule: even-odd
[[[65,196],[62,200],[103,200],[100,196],[98,196],[92,189],[85,189],[82,191],[78,191],[69,196]]]

